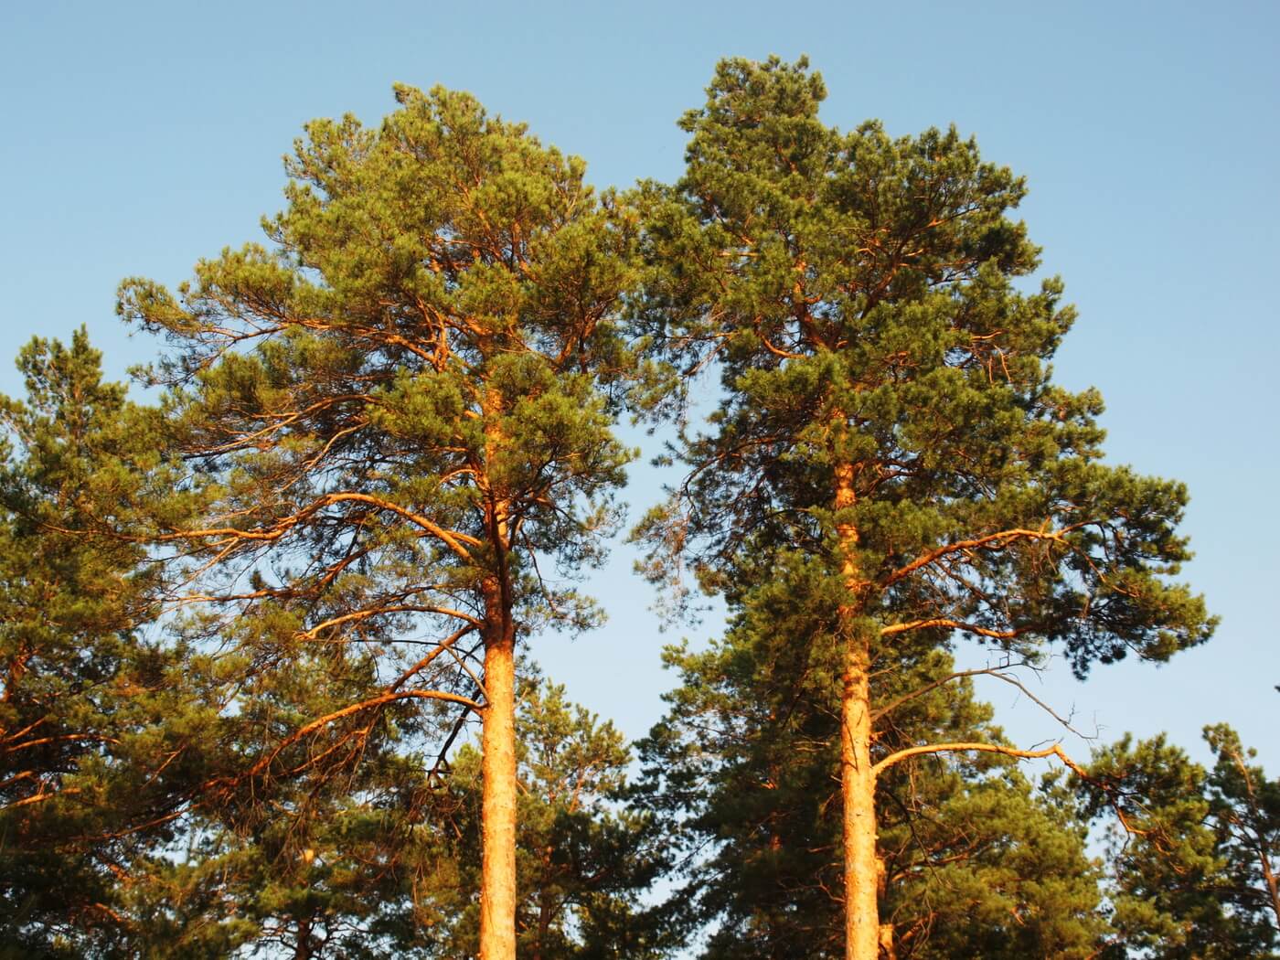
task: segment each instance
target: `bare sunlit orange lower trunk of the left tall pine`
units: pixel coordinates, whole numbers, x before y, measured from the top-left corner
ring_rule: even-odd
[[[516,956],[516,657],[508,628],[485,641],[480,957]]]

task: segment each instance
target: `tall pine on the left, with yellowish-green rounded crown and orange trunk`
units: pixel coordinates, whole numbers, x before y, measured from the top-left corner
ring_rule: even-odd
[[[239,618],[257,676],[303,648],[372,658],[362,694],[279,748],[355,756],[415,703],[483,718],[480,954],[499,960],[516,943],[517,639],[596,622],[564,577],[599,561],[631,457],[603,392],[630,364],[614,312],[631,228],[524,125],[465,93],[396,95],[378,129],[307,127],[270,250],[202,261],[177,296],[129,280],[119,310],[173,344],[156,376],[179,388],[177,451],[209,506],[159,539],[221,604],[216,630]],[[268,750],[248,773],[312,760]]]

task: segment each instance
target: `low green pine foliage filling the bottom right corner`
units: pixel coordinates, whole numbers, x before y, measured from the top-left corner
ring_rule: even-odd
[[[1280,782],[1230,727],[1204,739],[1212,771],[1164,736],[1125,737],[1078,782],[1085,812],[1112,829],[1110,956],[1280,955]]]

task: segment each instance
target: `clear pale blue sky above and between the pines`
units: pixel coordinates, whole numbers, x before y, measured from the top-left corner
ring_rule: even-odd
[[[598,184],[672,178],[676,118],[719,56],[808,52],[828,123],[956,123],[1029,178],[1023,214],[1080,321],[1057,371],[1097,385],[1117,462],[1192,490],[1188,568],[1217,637],[1042,692],[1106,736],[1199,751],[1229,721],[1280,773],[1280,5],[1231,3],[8,3],[0,5],[0,358],[87,324],[113,374],[151,356],[113,315],[120,278],[175,283],[257,238],[301,124],[376,122],[393,81],[443,83],[585,156]],[[18,389],[5,360],[0,390]],[[636,472],[636,511],[659,492]],[[635,736],[673,677],[630,558],[593,581],[603,631],[535,655]],[[707,623],[692,631],[703,637]],[[969,659],[973,659],[972,657]],[[982,687],[1020,741],[1055,736]],[[1070,745],[1070,744],[1069,744]],[[1087,748],[1074,744],[1078,753]]]

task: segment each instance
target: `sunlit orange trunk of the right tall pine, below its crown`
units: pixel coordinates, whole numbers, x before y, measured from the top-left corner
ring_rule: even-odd
[[[844,417],[840,417],[844,420]],[[837,511],[855,503],[854,467],[836,467]],[[840,787],[844,800],[845,855],[845,957],[877,960],[879,954],[879,905],[876,856],[876,774],[872,771],[870,636],[861,622],[867,581],[856,563],[858,529],[840,521],[836,526],[842,554],[847,600],[840,608],[845,637],[845,676],[841,695]]]

